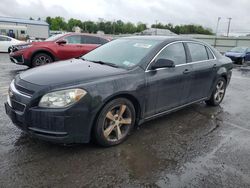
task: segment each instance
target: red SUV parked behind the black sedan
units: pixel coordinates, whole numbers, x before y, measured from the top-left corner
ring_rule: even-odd
[[[53,61],[80,57],[109,41],[108,38],[91,34],[58,34],[43,42],[12,46],[10,60],[19,65],[36,67]]]

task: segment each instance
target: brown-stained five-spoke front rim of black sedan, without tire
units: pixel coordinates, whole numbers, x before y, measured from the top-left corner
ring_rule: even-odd
[[[118,141],[124,138],[132,124],[132,113],[125,105],[112,108],[104,121],[103,134],[108,141]]]

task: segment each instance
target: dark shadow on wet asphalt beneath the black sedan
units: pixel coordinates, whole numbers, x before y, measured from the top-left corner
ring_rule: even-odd
[[[223,111],[222,107],[209,107],[206,106],[204,103],[198,103],[193,104],[189,107],[183,108],[179,111],[161,116],[159,118],[150,120],[148,122],[143,123],[142,125],[138,126],[136,125],[134,128],[134,131],[129,136],[128,140],[123,143],[122,145],[131,144],[134,142],[134,139],[144,140],[144,133],[148,134],[149,130],[152,130],[152,132],[155,131],[168,131],[168,128],[172,129],[171,132],[176,129],[178,126],[182,126],[183,129],[186,130],[195,129],[197,124],[194,124],[195,117],[199,116],[201,121],[210,129],[210,121],[214,121],[217,114],[221,113]],[[32,138],[29,135],[22,133],[20,134],[19,138],[17,138],[15,142],[15,146],[21,146],[21,145],[29,145],[29,147],[45,147],[47,149],[58,149],[58,150],[67,150],[70,148],[70,150],[89,150],[89,149],[103,149],[104,147],[99,146],[95,143],[94,140],[91,140],[90,143],[86,144],[58,144],[48,141],[43,141],[38,138]],[[116,147],[116,146],[114,146]],[[119,146],[118,146],[119,147]],[[112,148],[112,147],[111,147]]]

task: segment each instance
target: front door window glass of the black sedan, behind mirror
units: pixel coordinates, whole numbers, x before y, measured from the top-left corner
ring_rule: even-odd
[[[169,59],[174,62],[175,65],[181,65],[186,63],[186,53],[183,43],[175,43],[166,47],[161,53],[156,57],[158,59]]]

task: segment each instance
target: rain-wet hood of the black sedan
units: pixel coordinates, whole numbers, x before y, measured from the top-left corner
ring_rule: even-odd
[[[82,59],[71,59],[30,69],[21,73],[20,78],[36,85],[54,86],[79,81],[87,82],[126,71],[126,69],[92,63]]]

